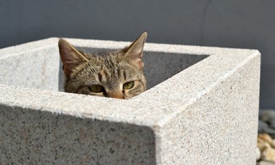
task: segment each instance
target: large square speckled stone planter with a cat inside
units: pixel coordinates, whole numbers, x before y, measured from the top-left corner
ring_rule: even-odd
[[[0,50],[2,164],[255,164],[258,51],[146,43],[149,89],[118,100],[62,92],[57,42]]]

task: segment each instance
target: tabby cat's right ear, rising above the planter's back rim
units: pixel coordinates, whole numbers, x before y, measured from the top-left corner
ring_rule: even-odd
[[[138,37],[129,47],[126,47],[126,58],[130,63],[142,68],[144,64],[142,63],[143,47],[146,41],[147,33],[144,32]]]

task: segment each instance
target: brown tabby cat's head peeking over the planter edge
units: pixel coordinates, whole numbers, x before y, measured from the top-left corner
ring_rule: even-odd
[[[65,92],[129,99],[146,91],[142,62],[147,33],[122,50],[88,54],[59,39]]]

